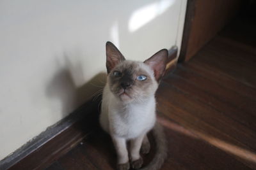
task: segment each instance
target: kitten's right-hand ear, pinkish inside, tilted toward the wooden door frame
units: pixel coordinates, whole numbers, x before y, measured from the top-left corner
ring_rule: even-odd
[[[163,49],[144,61],[145,64],[148,64],[154,70],[154,76],[157,81],[164,75],[167,58],[168,50]]]

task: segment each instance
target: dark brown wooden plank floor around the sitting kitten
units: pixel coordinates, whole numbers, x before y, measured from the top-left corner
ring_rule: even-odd
[[[157,112],[169,147],[163,169],[256,169],[255,30],[227,27],[161,82]],[[115,161],[111,139],[97,129],[47,169],[105,170]]]

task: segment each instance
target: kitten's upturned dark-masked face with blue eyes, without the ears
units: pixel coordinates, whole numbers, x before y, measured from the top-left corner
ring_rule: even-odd
[[[111,92],[124,102],[143,102],[156,92],[154,71],[143,62],[124,60],[108,74]]]

